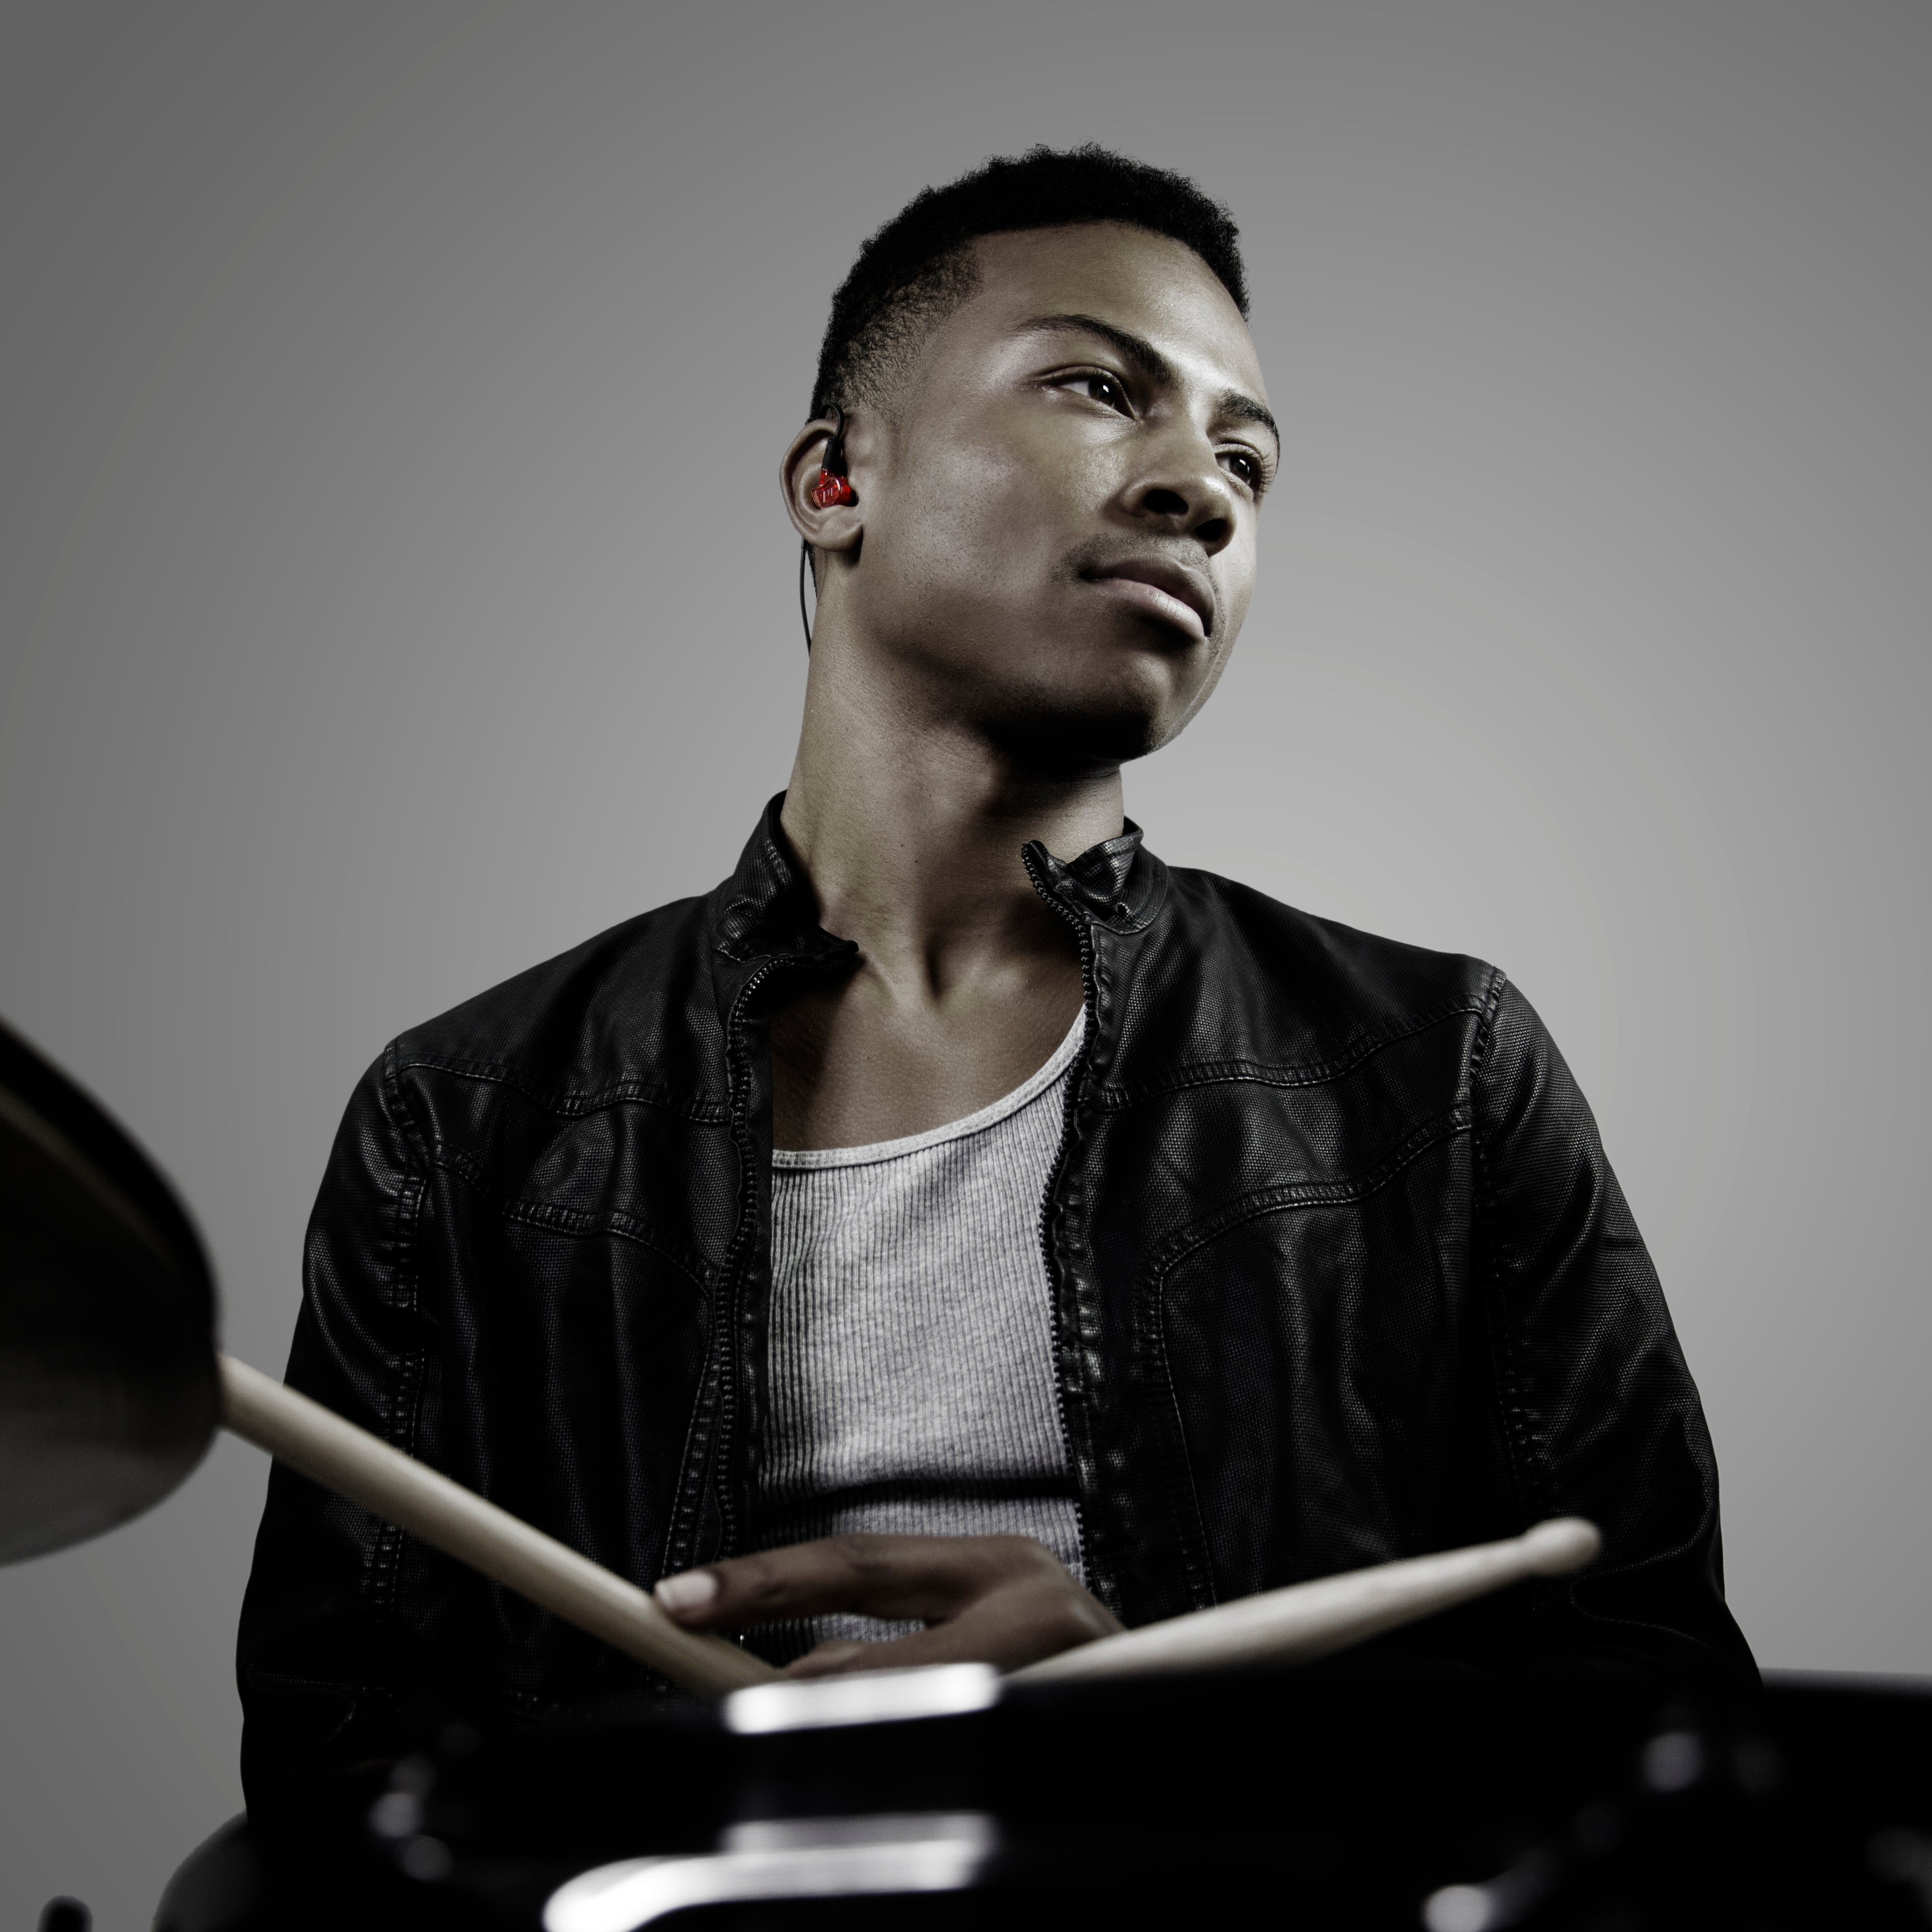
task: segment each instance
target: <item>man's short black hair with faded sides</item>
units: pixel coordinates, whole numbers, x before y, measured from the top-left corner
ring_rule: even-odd
[[[1184,174],[1092,141],[999,155],[945,187],[922,189],[860,251],[833,296],[811,415],[877,402],[895,365],[972,294],[980,236],[1084,222],[1130,222],[1194,249],[1248,313],[1235,218]]]

